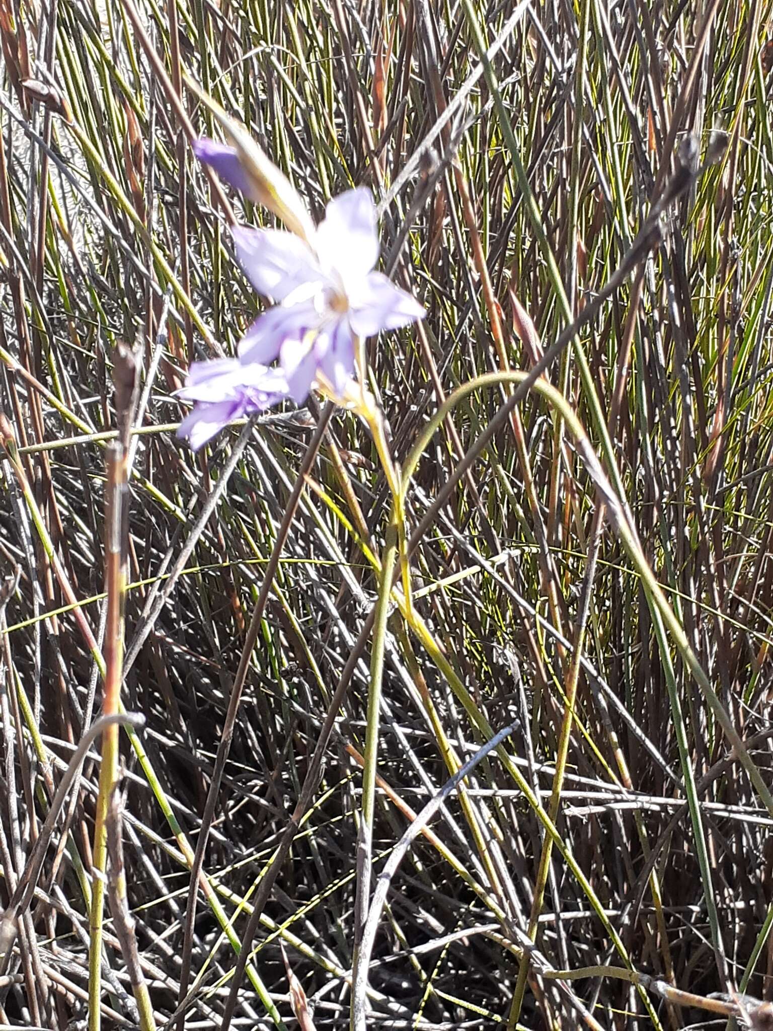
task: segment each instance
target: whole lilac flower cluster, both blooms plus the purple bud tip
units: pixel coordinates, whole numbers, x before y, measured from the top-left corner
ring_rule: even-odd
[[[249,195],[235,147],[200,139],[196,157]],[[274,302],[247,330],[237,359],[195,362],[179,396],[195,401],[179,436],[201,447],[224,426],[284,398],[300,404],[314,384],[343,397],[356,374],[356,338],[424,318],[418,302],[373,269],[379,244],[367,190],[332,200],[308,241],[276,229],[233,230],[255,289]],[[278,359],[278,366],[269,368]]]

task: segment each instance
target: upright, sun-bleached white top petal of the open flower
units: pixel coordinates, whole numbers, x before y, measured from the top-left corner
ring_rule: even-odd
[[[360,282],[378,261],[376,208],[370,191],[348,190],[325,209],[316,229],[316,246],[323,265],[336,271],[343,286]]]

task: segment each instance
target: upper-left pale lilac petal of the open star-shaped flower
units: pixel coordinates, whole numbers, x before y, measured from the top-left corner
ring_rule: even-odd
[[[283,301],[299,287],[322,289],[325,275],[307,243],[279,229],[232,230],[241,267],[259,294]]]

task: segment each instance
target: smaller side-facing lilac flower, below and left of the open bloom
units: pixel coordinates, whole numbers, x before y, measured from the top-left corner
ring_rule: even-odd
[[[180,423],[177,436],[198,451],[235,419],[270,408],[287,395],[281,369],[267,369],[257,362],[245,365],[236,358],[194,362],[177,396],[196,405]]]

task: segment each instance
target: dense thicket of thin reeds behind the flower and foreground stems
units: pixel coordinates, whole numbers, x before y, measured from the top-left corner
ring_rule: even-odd
[[[104,445],[116,425],[111,366],[123,339],[143,362],[125,700],[147,720],[145,766],[126,741],[123,749],[125,863],[161,1026],[177,1008],[190,878],[159,795],[195,844],[245,626],[317,415],[312,405],[254,429],[186,554],[239,430],[194,455],[175,440],[182,407],[171,395],[191,360],[234,353],[259,301],[180,129],[181,105],[196,132],[213,131],[184,75],[250,127],[315,218],[351,185],[369,186],[380,202],[384,268],[428,310],[421,326],[371,341],[398,460],[455,387],[494,369],[528,369],[565,328],[550,254],[576,315],[629,253],[684,134],[702,153],[712,131],[726,134],[713,137],[718,161],[670,208],[662,238],[647,241],[646,260],[581,329],[586,374],[572,347],[548,374],[599,454],[598,412],[608,423],[651,567],[769,783],[773,41],[770,4],[758,0],[478,3],[472,21],[465,5],[426,0],[180,0],[171,11],[134,3],[0,0],[2,407],[61,563],[58,572],[6,463],[0,903],[100,704],[100,677],[62,583],[99,635]],[[473,21],[495,48],[499,94],[481,75]],[[503,110],[530,193],[515,175]],[[231,199],[240,220],[269,224]],[[503,397],[474,393],[436,435],[409,496],[410,529]],[[283,551],[205,855],[237,940],[239,905],[287,825],[373,605],[352,497],[360,529],[379,546],[386,487],[366,430],[339,412]],[[489,724],[516,724],[508,750],[547,807],[587,595],[559,830],[593,898],[554,854],[540,918],[544,963],[625,965],[601,911],[636,970],[703,996],[742,985],[767,998],[770,814],[672,644],[659,640],[607,527],[589,580],[598,504],[562,423],[530,395],[425,534],[413,564],[417,609]],[[391,629],[379,773],[404,805],[379,793],[378,862],[406,827],[405,806],[419,809],[447,778],[444,740],[462,759],[482,740],[422,641],[399,620]],[[254,943],[276,1010],[267,1016],[245,979],[234,1026],[295,1025],[280,939],[316,1027],[348,1024],[361,784],[352,750],[364,749],[367,660],[366,646]],[[708,880],[684,804],[676,701]],[[0,1023],[65,1028],[85,1017],[97,776],[94,755],[57,825],[10,979],[0,982]],[[449,801],[433,828],[445,851],[419,837],[389,895],[370,972],[372,1025],[506,1025],[513,947],[523,945],[513,928],[523,936],[528,926],[540,822],[491,758],[468,783],[465,805]],[[105,1026],[134,1026],[109,919],[105,959]],[[187,1026],[220,1026],[234,962],[202,897]],[[654,996],[647,1008],[629,984],[589,975],[563,988],[533,977],[522,1025],[577,1026],[572,997],[604,1028],[700,1019]],[[725,1023],[707,1018],[699,1026]]]

